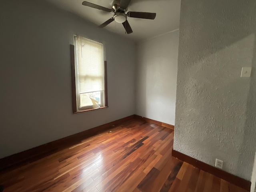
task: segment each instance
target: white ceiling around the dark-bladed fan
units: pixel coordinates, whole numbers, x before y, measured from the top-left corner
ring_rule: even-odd
[[[47,0],[55,6],[72,12],[97,25],[104,23],[113,14],[83,6],[84,0]],[[111,9],[113,0],[86,0]],[[131,0],[128,11],[156,13],[154,20],[127,18],[132,27],[132,34],[125,34],[122,24],[115,21],[105,27],[106,30],[118,33],[135,41],[142,41],[179,28],[181,0]],[[103,29],[102,29],[103,30]]]

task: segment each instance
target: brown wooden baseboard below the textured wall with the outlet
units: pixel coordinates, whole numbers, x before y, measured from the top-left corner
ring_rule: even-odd
[[[172,156],[184,161],[184,162],[187,162],[189,164],[192,164],[193,166],[195,167],[198,167],[210,174],[213,174],[219,178],[222,178],[236,186],[239,186],[247,191],[250,191],[250,187],[251,187],[251,182],[250,181],[247,181],[243,178],[240,178],[238,176],[235,176],[235,175],[232,175],[228,172],[225,172],[221,169],[218,169],[214,166],[210,166],[202,161],[199,161],[199,160],[196,160],[190,156],[187,156],[181,152],[178,152],[176,150],[172,150]]]

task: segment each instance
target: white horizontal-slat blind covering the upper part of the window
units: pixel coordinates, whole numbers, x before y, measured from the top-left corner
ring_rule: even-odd
[[[76,36],[79,92],[104,90],[103,44]]]

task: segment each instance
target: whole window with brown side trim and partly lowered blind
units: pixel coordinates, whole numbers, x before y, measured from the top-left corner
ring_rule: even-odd
[[[106,61],[102,43],[75,36],[70,45],[73,112],[107,106]]]

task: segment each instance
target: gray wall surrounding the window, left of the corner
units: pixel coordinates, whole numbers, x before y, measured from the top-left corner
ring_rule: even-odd
[[[74,34],[106,42],[109,108],[72,114]],[[0,158],[135,113],[134,42],[42,0],[2,0],[0,42]]]

